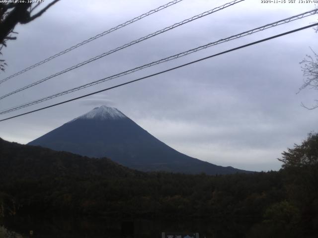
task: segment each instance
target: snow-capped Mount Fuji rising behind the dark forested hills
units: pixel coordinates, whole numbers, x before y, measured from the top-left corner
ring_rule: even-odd
[[[116,108],[101,106],[75,118],[28,145],[111,160],[141,171],[174,173],[249,173],[217,166],[182,154],[148,133]]]

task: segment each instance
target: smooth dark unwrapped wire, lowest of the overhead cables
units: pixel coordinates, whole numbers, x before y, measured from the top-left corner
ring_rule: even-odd
[[[128,81],[128,82],[125,82],[125,83],[121,83],[121,84],[118,84],[116,86],[105,88],[105,89],[102,89],[102,90],[99,90],[99,91],[96,91],[96,92],[93,92],[93,93],[85,94],[85,95],[82,95],[82,96],[79,96],[79,97],[76,97],[76,98],[73,98],[73,99],[69,99],[69,100],[66,100],[66,101],[63,101],[63,102],[60,102],[60,103],[56,103],[56,104],[47,106],[47,107],[43,107],[43,108],[40,108],[40,109],[29,111],[27,113],[22,113],[22,114],[13,116],[13,117],[1,119],[0,121],[4,121],[4,120],[20,117],[20,116],[27,115],[27,114],[30,114],[30,113],[34,113],[34,112],[37,112],[37,111],[41,111],[41,110],[44,110],[44,109],[47,109],[47,108],[52,108],[52,107],[55,107],[55,106],[58,106],[58,105],[61,105],[61,104],[64,104],[64,103],[72,102],[72,101],[75,101],[75,100],[78,100],[78,99],[81,99],[81,98],[84,98],[84,97],[87,97],[87,96],[91,96],[91,95],[94,95],[94,94],[97,94],[97,93],[101,93],[101,92],[104,92],[104,91],[107,91],[107,90],[110,90],[110,89],[118,88],[118,87],[124,86],[126,84],[137,82],[137,81],[140,81],[142,79],[150,78],[150,77],[153,77],[153,76],[156,76],[156,75],[159,75],[159,74],[162,74],[162,73],[165,73],[165,72],[177,69],[177,68],[181,68],[181,67],[190,65],[192,63],[196,63],[196,62],[199,62],[199,61],[202,61],[202,60],[207,60],[207,59],[210,59],[210,58],[213,58],[213,57],[216,57],[216,56],[220,56],[220,55],[232,52],[232,51],[236,51],[236,50],[239,50],[239,49],[251,46],[251,45],[255,45],[255,44],[258,44],[258,43],[261,43],[261,42],[264,42],[264,41],[268,41],[268,40],[271,40],[271,39],[274,39],[274,38],[277,38],[277,37],[288,35],[288,34],[291,34],[291,33],[297,32],[297,31],[301,31],[301,30],[304,30],[304,29],[307,29],[307,28],[310,28],[310,27],[313,27],[313,26],[317,26],[317,25],[318,25],[318,23],[311,24],[311,25],[308,25],[308,26],[304,26],[304,27],[292,30],[292,31],[288,31],[288,32],[284,32],[284,33],[281,33],[281,34],[278,34],[278,35],[275,35],[275,36],[271,36],[271,37],[268,37],[268,38],[265,38],[265,39],[262,39],[262,40],[259,40],[259,41],[254,41],[252,43],[249,43],[249,44],[246,44],[246,45],[243,45],[243,46],[239,46],[239,47],[233,48],[231,50],[227,50],[227,51],[224,51],[224,52],[212,55],[212,56],[208,56],[208,57],[205,57],[205,58],[201,58],[199,60],[194,60],[194,61],[191,61],[191,62],[188,62],[188,63],[185,63],[185,64],[181,64],[179,66],[176,66],[176,67],[173,67],[173,68],[169,68],[169,69],[160,71],[158,73],[154,73],[154,74],[151,74],[151,75],[148,75],[148,76],[145,76],[145,77],[141,77],[141,78],[138,78],[138,79],[135,79],[135,80],[131,80],[131,81]]]

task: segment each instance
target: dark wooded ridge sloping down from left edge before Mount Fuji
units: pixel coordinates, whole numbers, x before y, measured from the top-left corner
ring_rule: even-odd
[[[114,178],[143,174],[107,158],[94,159],[0,138],[0,181],[46,177]]]

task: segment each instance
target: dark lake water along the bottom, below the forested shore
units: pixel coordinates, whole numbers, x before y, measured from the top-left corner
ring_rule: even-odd
[[[207,220],[145,220],[15,217],[1,221],[0,238],[161,238],[161,232],[199,233],[200,238],[245,237],[248,227]],[[32,231],[33,235],[29,235]]]

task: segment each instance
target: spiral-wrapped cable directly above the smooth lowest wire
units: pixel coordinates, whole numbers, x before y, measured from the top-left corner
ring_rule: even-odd
[[[163,63],[163,62],[166,62],[166,61],[169,61],[169,60],[178,59],[180,57],[187,56],[189,54],[192,54],[192,53],[195,53],[197,51],[206,49],[208,47],[215,46],[215,45],[218,45],[218,44],[221,44],[221,43],[224,43],[224,42],[228,42],[228,41],[231,41],[231,40],[235,40],[235,39],[238,39],[240,37],[244,37],[246,35],[251,35],[251,34],[256,33],[258,31],[262,31],[262,30],[268,29],[270,27],[275,27],[277,25],[288,23],[290,21],[298,20],[298,19],[301,19],[303,17],[315,14],[317,12],[318,12],[318,9],[314,9],[314,10],[307,11],[307,12],[304,12],[304,13],[301,13],[301,14],[298,14],[298,15],[295,15],[295,16],[291,16],[291,17],[288,17],[288,18],[285,18],[285,19],[282,19],[282,20],[279,20],[279,21],[275,21],[273,23],[269,23],[269,24],[260,26],[258,28],[254,28],[252,30],[245,31],[245,32],[239,33],[237,35],[234,35],[234,36],[231,36],[231,37],[228,37],[228,38],[225,38],[225,39],[221,39],[221,40],[206,44],[204,46],[200,46],[200,47],[197,47],[197,48],[194,48],[194,49],[191,49],[191,50],[188,50],[188,51],[185,51],[185,52],[182,52],[182,53],[179,53],[179,54],[176,54],[176,55],[173,55],[173,56],[161,59],[161,60],[157,60],[157,61],[154,61],[154,62],[151,62],[151,63],[148,63],[148,64],[144,64],[142,66],[135,67],[133,69],[129,69],[129,70],[126,70],[124,72],[117,73],[115,75],[108,76],[108,77],[105,77],[105,78],[93,81],[91,83],[87,83],[87,84],[72,88],[72,89],[57,93],[57,94],[53,94],[53,95],[45,97],[45,98],[41,98],[41,99],[38,99],[38,100],[35,100],[35,101],[32,101],[32,102],[28,102],[28,103],[25,103],[25,104],[22,104],[22,105],[15,106],[13,108],[2,110],[0,112],[0,115],[19,110],[21,108],[29,107],[29,106],[32,106],[32,105],[35,105],[35,104],[38,104],[38,103],[53,99],[53,98],[57,98],[57,97],[65,95],[65,94],[69,94],[69,93],[72,93],[72,92],[75,92],[75,91],[78,91],[78,90],[81,90],[81,89],[84,89],[84,88],[87,88],[87,87],[90,87],[90,86],[93,86],[93,85],[96,85],[96,84],[99,84],[99,83],[102,83],[102,82],[105,82],[105,81],[109,81],[109,80],[112,80],[114,78],[118,78],[118,77],[130,74],[130,73],[139,71],[141,69],[144,69],[144,68],[147,68],[147,67],[151,67],[153,65],[157,65],[159,63]]]

